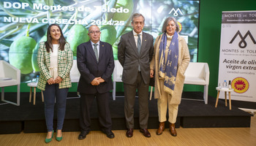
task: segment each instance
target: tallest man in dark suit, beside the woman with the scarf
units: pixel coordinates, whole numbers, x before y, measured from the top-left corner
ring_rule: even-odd
[[[143,32],[145,18],[132,15],[133,30],[121,36],[118,44],[118,61],[123,66],[124,114],[127,121],[127,137],[133,136],[135,94],[138,89],[140,105],[140,132],[151,137],[148,127],[148,85],[150,81],[149,63],[154,53],[154,39]]]

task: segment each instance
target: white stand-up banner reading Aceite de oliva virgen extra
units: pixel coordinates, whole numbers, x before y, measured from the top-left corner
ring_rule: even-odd
[[[232,100],[256,102],[255,17],[255,10],[222,12],[218,85],[232,88]],[[225,93],[219,99],[225,99]]]

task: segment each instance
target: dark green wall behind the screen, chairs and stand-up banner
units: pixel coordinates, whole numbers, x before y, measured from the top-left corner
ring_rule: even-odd
[[[219,72],[219,42],[222,22],[222,11],[256,10],[255,0],[200,0],[200,25],[198,62],[208,63],[210,69],[210,82],[208,94],[217,96],[215,87],[218,82]],[[20,86],[23,92],[29,92],[26,84]],[[117,91],[123,91],[123,84],[118,82]],[[75,92],[77,83],[72,84],[70,92]],[[13,92],[16,87],[6,88],[5,91]],[[203,91],[200,85],[184,85],[184,91]]]

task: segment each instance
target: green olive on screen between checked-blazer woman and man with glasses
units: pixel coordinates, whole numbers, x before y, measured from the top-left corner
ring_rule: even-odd
[[[89,39],[88,30],[83,25],[76,24],[70,28],[69,34],[67,35],[67,42],[69,42],[74,56],[77,54],[78,45],[88,42]]]

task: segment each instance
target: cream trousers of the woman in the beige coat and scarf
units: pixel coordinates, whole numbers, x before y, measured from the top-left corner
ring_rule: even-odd
[[[168,108],[168,121],[170,123],[176,123],[176,118],[178,115],[178,104],[170,104],[170,99],[172,98],[172,96],[164,91],[164,80],[159,80],[159,83],[162,94],[161,99],[157,99],[159,122],[166,121],[166,112]]]

